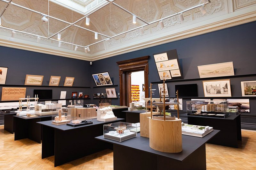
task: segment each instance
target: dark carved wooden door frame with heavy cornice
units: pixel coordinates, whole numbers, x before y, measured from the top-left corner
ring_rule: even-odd
[[[148,98],[148,58],[149,56],[144,56],[116,62],[119,66],[120,106],[129,106],[128,94],[131,87],[128,81],[131,81],[129,78],[131,72],[144,71],[145,98]]]

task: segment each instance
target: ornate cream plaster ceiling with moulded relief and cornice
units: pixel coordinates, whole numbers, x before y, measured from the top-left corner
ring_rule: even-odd
[[[90,12],[87,11],[87,13],[83,14],[81,11],[74,10],[73,7],[63,5],[63,0],[62,4],[57,1],[12,0],[12,3],[59,18],[68,23],[74,23]],[[73,2],[86,8],[86,4],[88,5],[94,1],[67,0],[67,2]],[[97,4],[107,3],[106,0],[95,0],[95,2]],[[115,0],[114,3],[150,23],[202,4],[202,1]],[[5,5],[5,2],[0,1],[0,12],[4,10]],[[41,15],[10,4],[1,17],[1,26],[3,27],[50,37],[69,26],[60,32],[61,41],[80,46],[96,44],[90,46],[90,52],[84,53],[84,48],[79,47],[77,51],[74,51],[75,46],[68,43],[62,43],[59,48],[58,41],[51,39],[42,38],[41,42],[37,43],[36,36],[26,33],[17,32],[16,37],[10,39],[11,30],[0,28],[0,45],[93,61],[256,20],[256,0],[211,0],[211,3],[206,4],[204,7],[207,11],[204,15],[196,8],[183,13],[184,21],[180,21],[177,15],[164,19],[164,28],[156,22],[144,26],[143,34],[139,29],[136,29],[111,38],[108,41],[96,43],[107,38],[100,34],[112,37],[138,26],[143,26],[145,22],[137,18],[137,23],[133,24],[132,15],[112,3],[89,15],[89,26],[85,25],[85,18],[77,22],[76,25],[80,27],[69,26],[67,23],[52,18],[49,18],[49,22],[45,23],[41,21]],[[96,5],[95,8],[97,8]],[[81,27],[100,33],[98,40],[94,39],[93,32]],[[57,40],[57,35],[52,38]]]

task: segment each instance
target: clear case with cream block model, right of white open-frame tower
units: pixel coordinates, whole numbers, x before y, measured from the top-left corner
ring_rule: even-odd
[[[45,115],[57,115],[58,110],[62,107],[61,103],[58,101],[44,101],[37,102],[35,104],[35,115],[45,116]]]

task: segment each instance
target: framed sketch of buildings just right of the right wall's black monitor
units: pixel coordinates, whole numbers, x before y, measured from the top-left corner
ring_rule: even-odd
[[[231,97],[230,79],[203,81],[204,97]]]

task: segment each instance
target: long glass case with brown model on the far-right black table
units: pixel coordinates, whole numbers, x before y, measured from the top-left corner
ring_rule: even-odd
[[[229,115],[227,108],[227,100],[187,101],[187,115],[225,118]]]

